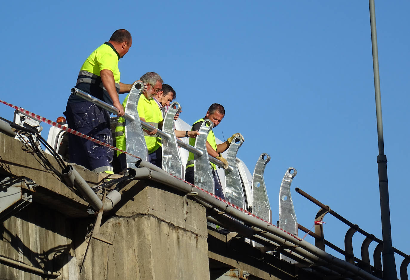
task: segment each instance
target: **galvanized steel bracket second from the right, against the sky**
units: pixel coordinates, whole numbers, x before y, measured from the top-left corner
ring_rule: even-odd
[[[269,204],[268,193],[266,191],[265,182],[263,180],[263,173],[266,164],[271,160],[271,156],[262,153],[256,163],[252,178],[252,213],[269,223],[272,223],[272,211]]]

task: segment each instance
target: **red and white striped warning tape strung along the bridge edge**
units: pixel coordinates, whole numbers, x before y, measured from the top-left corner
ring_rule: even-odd
[[[3,103],[3,104],[5,104],[5,105],[7,105],[7,106],[10,106],[10,107],[12,107],[12,108],[14,108],[14,109],[20,111],[20,112],[23,112],[24,114],[27,114],[28,116],[30,116],[30,117],[32,117],[32,118],[35,118],[37,121],[42,121],[42,122],[44,122],[44,123],[47,123],[47,124],[52,125],[52,126],[55,126],[55,127],[59,128],[59,129],[61,129],[61,130],[64,130],[64,131],[66,131],[66,132],[69,132],[69,133],[71,133],[71,134],[74,134],[74,135],[80,136],[80,137],[82,137],[82,138],[84,138],[84,139],[93,141],[94,143],[100,144],[100,145],[102,145],[102,146],[111,148],[111,149],[113,149],[113,150],[120,151],[121,153],[124,153],[124,154],[126,154],[126,155],[130,155],[130,156],[132,156],[132,157],[136,157],[136,158],[140,159],[140,157],[137,157],[136,155],[132,155],[132,154],[130,154],[130,153],[127,153],[127,152],[125,152],[125,151],[123,151],[123,150],[121,150],[121,149],[118,149],[118,148],[116,148],[116,147],[114,147],[114,146],[108,145],[107,143],[101,142],[100,140],[97,140],[97,139],[94,139],[94,138],[92,138],[92,137],[89,137],[89,136],[87,136],[87,135],[85,135],[85,134],[82,134],[81,132],[78,132],[78,131],[73,130],[73,129],[71,129],[71,128],[65,127],[64,125],[60,125],[59,123],[56,123],[56,122],[54,122],[54,121],[50,121],[50,120],[47,119],[47,118],[43,118],[42,116],[36,115],[36,114],[34,114],[34,113],[30,112],[30,111],[27,111],[27,110],[25,110],[25,109],[23,109],[23,108],[21,108],[21,107],[17,107],[17,106],[15,106],[15,105],[10,104],[10,103],[8,103],[8,102],[5,102],[5,101],[3,101],[3,100],[1,100],[1,99],[0,99],[0,103]],[[172,175],[172,174],[170,174],[170,175]],[[175,177],[175,176],[174,176],[174,177]],[[178,178],[178,177],[175,177],[175,178],[181,180],[181,179]],[[184,180],[182,180],[182,181],[184,181]],[[191,183],[189,183],[189,182],[187,182],[187,181],[184,181],[184,182],[186,182],[186,183],[188,183],[188,184],[191,184]],[[257,219],[259,219],[259,220],[261,220],[261,221],[264,221],[265,223],[268,223],[269,225],[272,225],[272,226],[275,227],[275,228],[278,228],[276,225],[273,225],[273,224],[269,223],[268,221],[265,221],[264,219],[259,218],[259,217],[256,216],[255,214],[252,214],[251,212],[248,212],[247,210],[245,210],[245,209],[243,209],[243,208],[241,208],[241,207],[239,207],[239,206],[236,206],[236,205],[230,203],[229,201],[227,201],[227,200],[225,200],[225,199],[223,199],[223,198],[220,198],[219,196],[216,196],[214,193],[211,193],[210,191],[207,191],[207,190],[202,189],[202,188],[200,188],[200,187],[198,187],[198,186],[195,186],[194,184],[191,184],[191,186],[196,187],[197,189],[199,189],[199,190],[201,190],[201,191],[204,191],[205,193],[209,194],[210,196],[213,196],[214,198],[221,200],[223,203],[226,203],[226,204],[228,204],[229,206],[234,207],[235,209],[238,209],[239,211],[241,211],[241,212],[243,212],[243,213],[245,213],[245,214],[248,214],[248,215],[250,215],[250,216],[253,216],[253,217],[255,217],[255,218],[257,218]],[[281,228],[278,228],[278,229],[282,230]],[[303,237],[303,238],[301,239],[300,237],[297,237],[297,236],[295,236],[294,234],[291,234],[291,233],[289,233],[289,232],[287,232],[287,231],[285,231],[285,230],[282,230],[282,231],[286,232],[286,233],[289,234],[289,235],[292,235],[293,237],[295,237],[295,238],[298,239],[298,240],[303,240],[303,239],[305,238],[305,237]]]

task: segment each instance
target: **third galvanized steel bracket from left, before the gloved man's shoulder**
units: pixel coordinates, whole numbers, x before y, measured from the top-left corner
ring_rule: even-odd
[[[214,127],[214,123],[206,119],[203,121],[198,131],[200,135],[196,136],[195,148],[200,150],[203,154],[201,156],[195,155],[194,157],[194,178],[196,186],[211,193],[215,193],[214,176],[212,175],[212,167],[208,159],[208,151],[206,148],[208,133],[212,130],[212,127]]]

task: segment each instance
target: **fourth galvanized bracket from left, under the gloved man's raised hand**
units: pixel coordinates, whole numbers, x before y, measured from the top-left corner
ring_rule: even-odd
[[[225,198],[230,203],[244,208],[244,188],[239,178],[238,168],[236,166],[236,155],[239,147],[242,146],[241,137],[235,137],[230,143],[226,160],[230,166],[233,167],[233,171],[229,172],[225,170]]]

